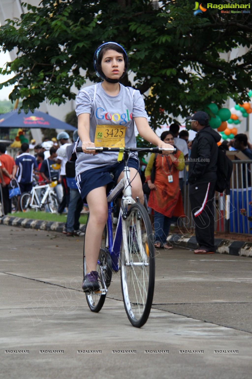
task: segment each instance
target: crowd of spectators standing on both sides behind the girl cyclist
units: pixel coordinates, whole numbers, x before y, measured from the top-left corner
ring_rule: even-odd
[[[181,193],[183,185],[189,183],[189,199],[195,222],[196,240],[199,244],[195,254],[210,254],[215,251],[212,215],[218,156],[216,143],[221,137],[210,128],[208,115],[205,112],[196,112],[191,118],[191,128],[197,132],[193,141],[189,141],[187,130],[179,132],[179,125],[172,124],[169,130],[162,133],[160,139],[165,144],[176,147],[176,153],[168,156],[150,155],[145,168],[145,181],[150,189],[147,205],[148,210],[152,210],[154,214],[155,247],[172,249],[173,246],[167,243],[167,236],[170,225],[179,217],[184,217]],[[59,201],[58,213],[62,214],[67,209],[63,234],[66,236],[85,234],[80,230],[79,223],[80,213],[83,210],[83,195],[79,192],[74,179],[75,163],[70,162],[77,138],[76,130],[72,141],[67,132],[60,132],[57,138],[52,140],[45,138],[37,145],[31,140],[30,144],[22,144],[15,161],[6,154],[5,144],[0,143],[0,183],[5,214],[11,213],[9,198],[11,180],[17,180],[21,194],[31,191],[34,177],[39,183],[57,181],[54,191]],[[245,134],[240,133],[232,141],[224,141],[221,146],[226,150],[240,150],[250,160],[252,159],[252,146]],[[30,153],[30,149],[34,155]],[[184,178],[185,162],[188,159],[189,172]],[[153,166],[155,179],[152,181]],[[245,165],[243,165],[244,170]],[[244,180],[245,177],[243,172]],[[250,175],[247,177],[250,185]]]

